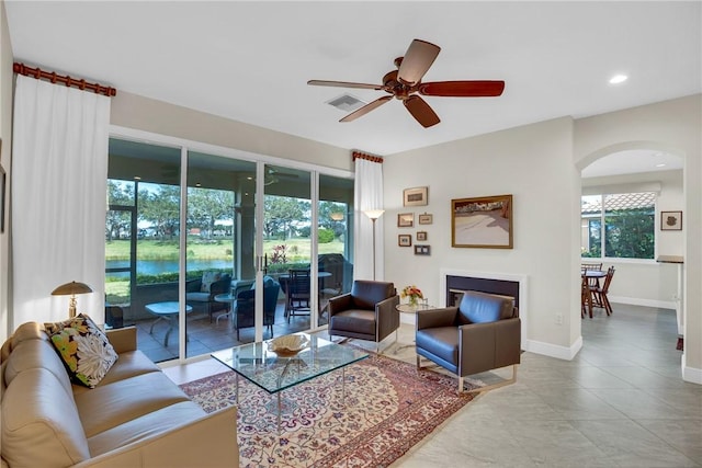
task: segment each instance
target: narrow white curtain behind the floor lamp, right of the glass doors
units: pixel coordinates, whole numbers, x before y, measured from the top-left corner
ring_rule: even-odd
[[[353,277],[373,279],[373,222],[366,209],[383,209],[383,163],[363,158],[355,160],[354,182],[354,260]],[[385,274],[383,262],[383,217],[375,221],[375,279]]]

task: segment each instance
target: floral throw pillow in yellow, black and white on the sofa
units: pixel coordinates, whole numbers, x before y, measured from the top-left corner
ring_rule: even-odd
[[[77,384],[95,388],[117,361],[107,336],[83,313],[63,322],[45,323],[44,328]]]

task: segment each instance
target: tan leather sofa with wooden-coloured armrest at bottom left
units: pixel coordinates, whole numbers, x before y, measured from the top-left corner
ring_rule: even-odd
[[[41,323],[3,344],[2,467],[238,467],[236,407],[206,414],[136,349],[136,329],[107,331],[118,353],[91,389],[72,385]]]

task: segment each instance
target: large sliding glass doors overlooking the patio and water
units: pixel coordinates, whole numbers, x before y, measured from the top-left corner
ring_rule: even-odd
[[[163,362],[324,326],[352,281],[350,175],[179,144],[110,140],[107,327]]]

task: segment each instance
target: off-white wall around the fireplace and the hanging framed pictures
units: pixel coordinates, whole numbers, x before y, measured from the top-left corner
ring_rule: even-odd
[[[421,132],[421,129],[418,129]],[[571,357],[580,339],[580,172],[571,162],[573,121],[564,117],[385,158],[385,278],[420,287],[439,304],[440,269],[526,275],[526,350]],[[429,186],[429,205],[403,207],[403,190]],[[451,247],[451,201],[513,195],[513,249]],[[398,213],[429,213],[433,225],[397,227]],[[430,256],[397,246],[427,230]],[[563,316],[562,324],[556,316]]]

